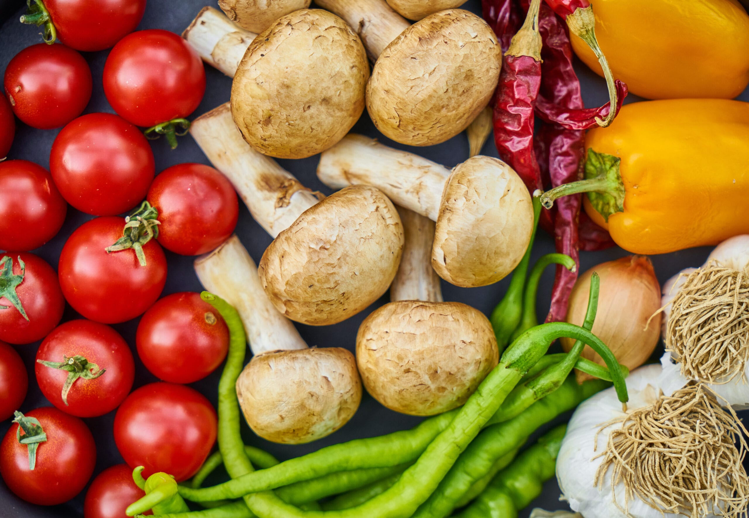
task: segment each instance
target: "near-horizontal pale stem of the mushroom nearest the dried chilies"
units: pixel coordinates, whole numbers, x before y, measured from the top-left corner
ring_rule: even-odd
[[[437,221],[450,171],[421,156],[349,133],[320,156],[318,177],[333,189],[376,186],[393,203]]]

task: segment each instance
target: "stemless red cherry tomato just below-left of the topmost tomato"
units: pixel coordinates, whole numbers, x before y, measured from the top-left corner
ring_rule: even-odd
[[[58,128],[81,115],[91,99],[91,69],[67,46],[37,43],[10,60],[4,86],[21,121],[38,129]]]

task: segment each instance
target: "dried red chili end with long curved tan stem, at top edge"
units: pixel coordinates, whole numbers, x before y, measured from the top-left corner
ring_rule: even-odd
[[[593,51],[595,57],[598,58],[598,63],[601,64],[601,69],[604,71],[610,106],[621,106],[617,99],[619,92],[613,80],[611,68],[606,61],[606,56],[601,52],[601,47],[598,46],[598,40],[595,39],[593,6],[588,0],[546,0],[546,4],[567,22],[572,34],[580,37]],[[606,118],[595,118],[595,121],[599,126],[607,127],[613,122],[615,116],[616,112],[608,112]]]

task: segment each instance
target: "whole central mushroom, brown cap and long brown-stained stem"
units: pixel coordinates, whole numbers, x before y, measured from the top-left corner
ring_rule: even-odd
[[[276,238],[260,260],[259,274],[282,314],[325,326],[357,314],[386,292],[401,260],[403,229],[380,190],[352,186],[318,201],[243,141],[227,104],[195,119],[190,132],[255,220]]]

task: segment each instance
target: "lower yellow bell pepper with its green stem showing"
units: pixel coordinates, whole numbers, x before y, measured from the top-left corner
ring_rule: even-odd
[[[631,103],[585,144],[585,179],[545,192],[545,207],[586,192],[586,213],[635,254],[749,234],[749,103]]]

